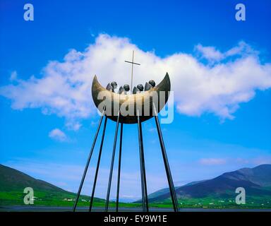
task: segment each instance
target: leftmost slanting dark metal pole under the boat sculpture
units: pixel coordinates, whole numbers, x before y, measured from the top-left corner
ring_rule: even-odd
[[[98,124],[98,128],[97,128],[97,131],[95,133],[94,141],[93,141],[91,149],[90,149],[90,155],[88,155],[88,161],[87,161],[87,163],[85,165],[85,170],[83,172],[83,176],[82,176],[82,179],[81,179],[81,182],[80,182],[80,186],[78,188],[78,192],[77,192],[77,196],[76,196],[76,201],[73,204],[73,212],[76,212],[76,206],[77,206],[77,203],[78,203],[78,200],[79,200],[79,196],[80,196],[80,193],[81,193],[81,190],[82,190],[82,186],[83,186],[84,181],[85,181],[85,175],[88,172],[88,166],[90,165],[90,159],[91,159],[94,147],[95,147],[95,143],[96,143],[96,140],[97,140],[98,133],[100,131],[100,127],[101,127],[101,124],[102,124],[103,117],[104,117],[104,109],[102,111],[102,116],[100,118],[100,121],[99,121],[99,124]]]

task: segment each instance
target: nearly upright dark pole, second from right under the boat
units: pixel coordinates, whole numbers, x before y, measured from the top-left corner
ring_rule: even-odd
[[[148,212],[149,211],[149,204],[147,201],[147,181],[146,181],[146,173],[145,173],[143,136],[142,136],[142,126],[141,126],[139,112],[138,112],[138,143],[139,143],[139,155],[140,155],[140,174],[141,174],[141,191],[142,191],[143,212]]]

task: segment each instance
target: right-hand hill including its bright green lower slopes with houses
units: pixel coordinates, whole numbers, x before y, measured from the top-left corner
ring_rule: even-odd
[[[183,207],[237,206],[235,190],[238,187],[246,189],[247,208],[271,208],[271,165],[243,168],[213,179],[191,182],[176,187],[176,195]],[[148,198],[150,203],[171,203],[169,189],[156,191]]]

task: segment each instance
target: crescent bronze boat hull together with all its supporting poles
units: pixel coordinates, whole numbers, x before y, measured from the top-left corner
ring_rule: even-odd
[[[100,126],[104,118],[104,126],[102,130],[102,138],[100,143],[100,151],[97,159],[97,167],[95,170],[95,178],[92,186],[92,194],[90,198],[90,208],[89,211],[92,211],[93,200],[95,196],[95,187],[97,182],[97,175],[100,167],[100,159],[102,155],[102,147],[104,143],[104,133],[107,126],[107,119],[112,119],[116,121],[116,129],[114,136],[114,144],[112,151],[112,160],[109,172],[109,180],[107,186],[107,199],[104,206],[104,211],[109,210],[109,198],[110,191],[112,186],[112,176],[114,169],[114,158],[116,153],[116,141],[118,137],[119,124],[120,124],[120,138],[119,138],[119,164],[118,164],[118,176],[117,176],[117,189],[116,189],[116,212],[119,211],[119,187],[121,180],[121,151],[122,151],[122,136],[124,124],[138,124],[138,145],[139,145],[139,154],[140,154],[140,175],[141,175],[141,192],[142,192],[142,207],[144,212],[149,211],[148,197],[147,197],[147,179],[145,174],[145,158],[144,158],[144,148],[143,148],[143,133],[142,125],[143,121],[147,121],[152,117],[155,118],[155,124],[157,126],[157,133],[159,136],[159,143],[162,151],[162,157],[164,160],[164,167],[167,174],[167,181],[169,183],[169,191],[172,200],[172,207],[174,211],[179,211],[178,199],[176,196],[176,191],[174,189],[174,183],[169,169],[169,162],[167,160],[166,148],[164,147],[164,141],[162,137],[162,130],[159,125],[159,119],[157,114],[161,109],[166,105],[167,100],[169,99],[170,93],[170,80],[168,73],[164,76],[164,79],[155,87],[150,88],[150,90],[145,90],[144,92],[138,92],[135,94],[119,94],[114,93],[111,90],[104,88],[99,81],[97,76],[93,78],[92,81],[92,98],[95,103],[95,106],[102,113],[100,121],[97,126],[97,131],[95,133],[94,141],[90,149],[90,154],[88,156],[88,161],[85,165],[85,170],[78,188],[78,193],[76,196],[75,203],[73,205],[73,211],[76,211],[76,206],[79,200],[80,192],[85,181],[85,176],[90,165],[90,159],[92,157],[93,150],[95,148],[95,143],[97,141],[97,136],[100,131]]]

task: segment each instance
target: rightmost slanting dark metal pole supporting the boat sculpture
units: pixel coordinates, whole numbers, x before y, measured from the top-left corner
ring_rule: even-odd
[[[155,105],[153,105],[153,106],[155,108]],[[173,183],[173,179],[172,179],[170,168],[169,168],[169,160],[167,159],[167,152],[166,152],[166,148],[164,147],[164,140],[163,140],[162,131],[160,128],[159,119],[157,116],[156,109],[155,109],[155,124],[157,127],[159,142],[160,142],[160,146],[161,146],[161,150],[162,150],[162,156],[163,156],[163,160],[164,160],[164,168],[166,169],[166,174],[167,174],[167,181],[169,182],[169,191],[170,191],[170,195],[171,195],[171,199],[172,199],[172,205],[174,208],[174,212],[179,212],[178,199],[176,196],[176,191],[174,188],[174,183]]]

